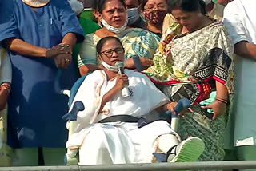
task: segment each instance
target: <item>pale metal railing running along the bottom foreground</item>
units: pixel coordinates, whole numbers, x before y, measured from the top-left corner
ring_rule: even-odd
[[[105,170],[213,170],[213,169],[256,169],[256,161],[200,161],[181,163],[150,163],[129,165],[67,165],[38,167],[0,167],[0,171],[105,171]]]

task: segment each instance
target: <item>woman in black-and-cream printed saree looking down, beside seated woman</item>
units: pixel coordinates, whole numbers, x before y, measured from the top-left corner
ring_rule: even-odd
[[[224,137],[228,137],[225,113],[228,101],[232,109],[234,90],[230,36],[222,22],[206,16],[202,0],[174,0],[170,10],[177,22],[163,35],[154,66],[146,72],[165,84],[161,89],[172,101],[187,97],[193,103],[193,111],[180,119],[178,133],[206,143],[199,160],[223,160]],[[212,98],[206,100],[210,94]]]

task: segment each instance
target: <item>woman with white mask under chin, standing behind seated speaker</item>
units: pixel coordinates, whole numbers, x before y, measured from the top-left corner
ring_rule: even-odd
[[[152,58],[158,47],[158,36],[142,29],[127,28],[126,4],[124,0],[98,0],[96,15],[102,22],[102,29],[94,34],[86,35],[85,41],[78,57],[80,74],[101,69],[97,60],[96,44],[106,36],[120,38],[125,47],[126,68],[134,69],[134,61],[131,58],[138,54],[142,66],[151,66]]]

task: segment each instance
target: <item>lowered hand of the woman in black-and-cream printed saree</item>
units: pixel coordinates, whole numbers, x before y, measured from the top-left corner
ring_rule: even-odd
[[[215,120],[218,116],[226,113],[226,104],[220,101],[215,101],[210,105],[202,106],[202,109],[213,109],[214,116],[212,119]]]

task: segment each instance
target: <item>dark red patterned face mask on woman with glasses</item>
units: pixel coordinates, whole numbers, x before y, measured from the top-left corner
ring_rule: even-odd
[[[143,14],[147,22],[153,24],[162,24],[167,14],[167,10],[154,10],[149,13],[144,12]]]

